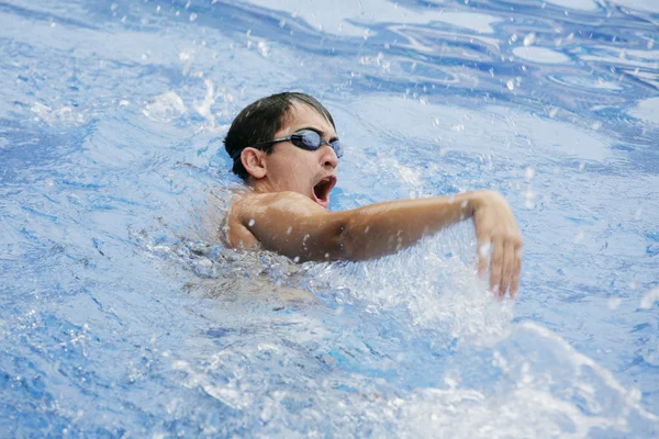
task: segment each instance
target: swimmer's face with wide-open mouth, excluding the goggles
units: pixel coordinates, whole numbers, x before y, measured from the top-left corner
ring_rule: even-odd
[[[337,138],[332,123],[311,106],[294,102],[275,138],[286,137],[300,130],[312,130],[327,142]],[[265,155],[267,173],[264,183],[270,191],[293,191],[309,196],[327,209],[330,192],[336,184],[338,158],[334,149],[322,145],[310,151],[290,142],[275,144],[273,153]]]

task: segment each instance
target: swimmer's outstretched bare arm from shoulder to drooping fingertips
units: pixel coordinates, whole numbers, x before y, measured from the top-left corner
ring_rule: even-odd
[[[232,216],[266,248],[299,260],[364,260],[390,255],[425,235],[473,217],[479,273],[485,274],[492,248],[490,286],[517,290],[522,237],[501,195],[476,191],[457,195],[376,203],[328,212],[294,192],[252,194]]]

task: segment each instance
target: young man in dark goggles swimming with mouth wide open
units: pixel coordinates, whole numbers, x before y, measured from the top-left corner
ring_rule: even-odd
[[[365,260],[390,255],[426,235],[473,218],[478,272],[490,259],[490,289],[514,297],[522,236],[496,192],[399,200],[330,212],[343,149],[330,112],[314,98],[273,94],[245,108],[224,140],[233,171],[248,189],[232,204],[224,240],[305,260]]]

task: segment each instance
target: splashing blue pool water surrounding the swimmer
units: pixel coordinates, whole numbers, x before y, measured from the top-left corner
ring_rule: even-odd
[[[0,436],[658,436],[658,29],[655,0],[0,1]],[[333,210],[502,192],[518,300],[469,223],[367,263],[222,248],[221,139],[282,90],[337,123]]]

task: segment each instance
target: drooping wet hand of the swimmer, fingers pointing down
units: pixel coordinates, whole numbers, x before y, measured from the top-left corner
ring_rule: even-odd
[[[490,261],[490,289],[499,297],[510,289],[511,297],[517,295],[522,271],[522,235],[511,207],[494,191],[474,193],[473,224],[478,239],[478,273],[484,277]]]

